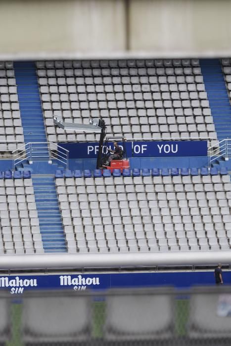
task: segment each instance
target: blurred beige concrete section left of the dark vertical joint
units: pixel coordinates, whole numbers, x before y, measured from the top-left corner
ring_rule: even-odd
[[[125,50],[123,0],[1,0],[0,54],[84,56]]]

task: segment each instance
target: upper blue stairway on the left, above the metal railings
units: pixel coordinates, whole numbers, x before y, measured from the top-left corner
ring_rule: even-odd
[[[25,143],[47,142],[35,63],[14,62],[14,73]]]

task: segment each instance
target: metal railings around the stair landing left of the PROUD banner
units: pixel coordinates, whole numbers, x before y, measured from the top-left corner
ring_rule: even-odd
[[[25,162],[33,163],[34,159],[47,160],[52,163],[52,159],[62,163],[68,170],[69,151],[64,149],[57,143],[52,142],[30,142],[22,145],[12,152],[13,156],[13,171],[16,165]]]

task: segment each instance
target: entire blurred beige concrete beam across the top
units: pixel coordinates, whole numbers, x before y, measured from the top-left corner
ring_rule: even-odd
[[[230,0],[1,0],[0,58],[231,56]]]

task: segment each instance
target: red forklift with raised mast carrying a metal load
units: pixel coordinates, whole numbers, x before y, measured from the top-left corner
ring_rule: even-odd
[[[106,137],[106,125],[104,120],[101,119],[91,119],[89,125],[74,124],[62,122],[61,119],[54,117],[54,125],[58,126],[63,130],[71,130],[77,132],[90,132],[90,133],[100,133],[99,145],[98,145],[98,155],[96,169],[107,169],[111,172],[115,169],[119,169],[121,172],[125,168],[130,168],[129,159],[127,158],[126,151],[126,138],[124,137]],[[122,151],[119,158],[114,158],[110,164],[107,166],[106,163],[110,156],[108,151],[109,142],[122,142]],[[121,146],[120,146],[121,147]]]

